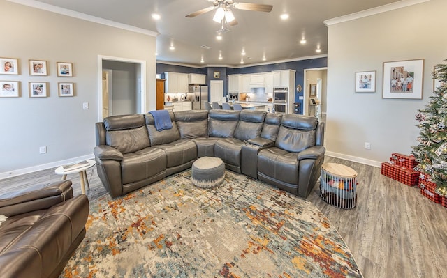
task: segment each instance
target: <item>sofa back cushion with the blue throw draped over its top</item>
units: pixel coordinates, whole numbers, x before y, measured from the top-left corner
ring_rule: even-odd
[[[174,121],[173,112],[170,112],[169,116],[170,121],[173,123],[173,128],[170,128],[169,130],[157,131],[154,125],[154,117],[151,114],[145,114],[145,124],[147,133],[149,134],[151,146],[169,144],[180,139],[179,129]]]

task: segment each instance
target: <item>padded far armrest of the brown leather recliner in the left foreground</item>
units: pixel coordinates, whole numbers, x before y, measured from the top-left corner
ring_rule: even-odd
[[[44,210],[73,197],[70,180],[34,185],[0,195],[0,215],[8,217]]]

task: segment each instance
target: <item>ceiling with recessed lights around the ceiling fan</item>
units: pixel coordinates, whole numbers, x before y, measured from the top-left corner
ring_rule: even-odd
[[[235,0],[237,1],[237,0]],[[18,1],[20,2],[20,1]],[[214,11],[193,18],[185,17],[208,6],[207,0],[39,0],[105,20],[119,22],[159,33],[156,38],[157,61],[188,65],[240,66],[272,63],[289,59],[324,55],[328,51],[328,28],[324,20],[349,15],[399,0],[241,0],[273,6],[272,12],[233,10],[239,24],[226,26],[230,32],[216,39],[219,23],[212,21]],[[152,19],[159,13],[161,20]],[[279,15],[288,13],[288,20]],[[359,32],[359,36],[365,36]],[[302,45],[300,40],[307,43]],[[170,50],[171,43],[175,50]],[[206,45],[210,49],[201,46]],[[316,53],[317,47],[321,48]],[[131,45],[129,45],[131,47]],[[246,55],[242,56],[242,48]],[[219,60],[219,52],[223,59]],[[263,61],[265,55],[266,61]],[[200,63],[203,56],[204,63]]]

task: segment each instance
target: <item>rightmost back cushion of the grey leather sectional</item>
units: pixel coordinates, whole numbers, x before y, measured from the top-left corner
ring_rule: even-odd
[[[316,144],[318,119],[302,115],[284,115],[279,126],[275,146],[299,153]]]

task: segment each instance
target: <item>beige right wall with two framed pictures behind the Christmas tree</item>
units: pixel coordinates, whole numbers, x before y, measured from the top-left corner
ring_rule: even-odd
[[[393,152],[411,152],[414,116],[433,91],[434,65],[447,58],[446,10],[447,1],[432,0],[328,27],[330,155],[379,165]],[[423,100],[382,99],[383,62],[409,59],[425,59]],[[355,72],[369,70],[377,71],[376,93],[355,93]]]

